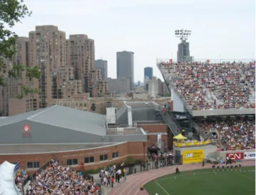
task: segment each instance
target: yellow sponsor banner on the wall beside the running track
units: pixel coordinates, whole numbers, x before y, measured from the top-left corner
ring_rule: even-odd
[[[183,164],[203,162],[204,152],[203,149],[183,151]]]

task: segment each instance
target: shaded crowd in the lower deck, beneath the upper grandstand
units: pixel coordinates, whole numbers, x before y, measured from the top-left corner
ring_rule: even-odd
[[[226,150],[255,149],[255,120],[222,120],[198,122],[204,131],[216,129]]]

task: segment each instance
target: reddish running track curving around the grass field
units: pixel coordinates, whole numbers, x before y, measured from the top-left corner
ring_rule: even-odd
[[[242,167],[255,166],[255,161],[241,162]],[[202,167],[202,164],[186,164],[178,166],[180,172],[194,170],[194,169],[209,169],[213,164],[205,164],[205,167]],[[122,181],[108,192],[108,195],[148,195],[148,191],[140,191],[139,188],[142,185],[145,185],[149,181],[156,179],[160,176],[165,176],[167,174],[175,173],[177,166],[166,167],[160,169],[153,169],[148,172],[142,172],[138,174],[132,174],[127,177],[126,181]]]

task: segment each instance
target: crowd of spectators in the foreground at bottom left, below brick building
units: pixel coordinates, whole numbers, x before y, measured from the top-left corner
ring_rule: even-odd
[[[31,181],[25,194],[98,195],[98,191],[100,185],[93,181],[93,176],[73,171],[71,167],[63,167],[51,159],[46,169],[36,173],[36,178]]]

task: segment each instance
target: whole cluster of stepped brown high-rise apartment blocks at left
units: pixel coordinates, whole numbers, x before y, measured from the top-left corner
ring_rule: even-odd
[[[4,115],[8,115],[8,110],[15,115],[47,107],[54,99],[81,93],[97,97],[108,91],[108,81],[103,80],[101,70],[95,68],[94,41],[86,35],[71,35],[66,40],[66,33],[57,26],[36,26],[35,31],[29,32],[29,38],[18,38],[16,50],[14,62],[37,66],[42,76],[32,81],[26,79],[25,71],[19,80],[6,76],[8,85],[0,88],[0,113],[4,110]],[[41,92],[19,100],[16,96],[24,85],[39,88]]]

